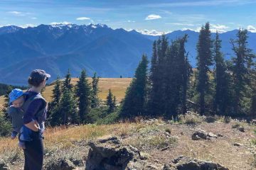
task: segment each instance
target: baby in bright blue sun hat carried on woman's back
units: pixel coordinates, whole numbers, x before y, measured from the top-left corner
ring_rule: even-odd
[[[21,89],[14,89],[9,94],[9,104],[8,114],[11,116],[11,124],[13,131],[11,132],[11,139],[14,140],[18,133],[21,132],[21,127],[23,126],[23,114],[22,110],[23,103],[25,101],[23,91]],[[25,149],[25,143],[19,141],[18,146]]]

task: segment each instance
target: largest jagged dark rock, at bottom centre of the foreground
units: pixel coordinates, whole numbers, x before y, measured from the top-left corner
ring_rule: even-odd
[[[157,169],[154,164],[142,160],[137,148],[124,146],[117,137],[105,136],[90,141],[86,170],[139,170]]]

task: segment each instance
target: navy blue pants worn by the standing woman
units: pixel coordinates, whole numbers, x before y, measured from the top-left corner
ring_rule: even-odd
[[[43,140],[35,139],[25,142],[26,149],[24,170],[41,170],[43,168]]]

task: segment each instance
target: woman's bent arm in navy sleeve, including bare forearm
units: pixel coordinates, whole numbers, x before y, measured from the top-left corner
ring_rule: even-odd
[[[41,99],[37,99],[35,101],[32,101],[30,103],[30,105],[28,106],[28,109],[26,111],[26,113],[24,114],[24,117],[23,117],[23,123],[24,125],[35,131],[35,132],[38,132],[39,130],[39,126],[38,126],[38,123],[33,120],[34,118],[34,115],[36,115],[36,113],[39,111],[39,109],[42,107],[43,105],[43,102],[41,101]]]

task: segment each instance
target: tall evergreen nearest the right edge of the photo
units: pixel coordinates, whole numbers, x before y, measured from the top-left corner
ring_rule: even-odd
[[[242,98],[247,91],[246,86],[250,86],[250,69],[252,67],[253,58],[252,50],[247,47],[247,30],[238,30],[237,40],[231,40],[233,51],[236,57],[233,57],[233,89],[234,97],[234,113],[238,115],[242,113]]]

